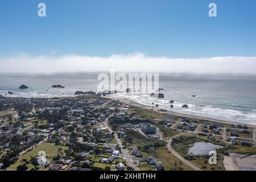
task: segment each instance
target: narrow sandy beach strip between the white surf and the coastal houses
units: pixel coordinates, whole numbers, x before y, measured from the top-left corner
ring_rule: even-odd
[[[199,116],[199,115],[191,115],[191,114],[183,114],[183,113],[177,113],[174,111],[159,111],[157,107],[155,106],[147,106],[147,105],[143,105],[143,104],[139,104],[138,102],[135,101],[131,101],[129,99],[125,99],[125,98],[119,98],[119,97],[111,97],[111,96],[102,96],[102,98],[109,98],[110,100],[114,100],[117,101],[119,100],[119,102],[122,102],[123,104],[126,105],[130,105],[130,106],[135,106],[135,107],[141,107],[143,109],[147,109],[147,110],[152,110],[161,114],[170,114],[170,115],[175,115],[177,117],[186,117],[186,118],[191,118],[191,119],[201,119],[201,120],[207,120],[207,121],[211,121],[211,122],[218,122],[218,123],[225,123],[225,124],[236,124],[236,125],[245,125],[248,127],[256,127],[256,123],[255,125],[251,125],[248,123],[243,123],[243,122],[237,122],[237,121],[226,121],[224,119],[214,119],[214,118],[208,118],[208,117],[204,117],[204,116]]]

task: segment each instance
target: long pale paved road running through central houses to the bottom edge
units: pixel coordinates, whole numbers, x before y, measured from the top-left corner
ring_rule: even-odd
[[[113,130],[109,127],[108,121],[109,121],[109,118],[112,117],[112,116],[113,116],[113,114],[109,115],[109,117],[106,118],[105,121],[104,121],[104,125],[106,126],[106,128],[109,130],[110,133],[112,133]],[[123,156],[125,156],[125,159],[127,161],[127,166],[133,167],[134,170],[137,171],[138,168],[133,163],[133,160],[131,159],[131,156],[129,155],[128,151],[126,149],[122,148],[122,142],[121,142],[121,139],[118,138],[117,133],[115,133],[114,136],[115,136],[115,139],[117,140],[117,143],[121,147],[121,151],[123,153]]]

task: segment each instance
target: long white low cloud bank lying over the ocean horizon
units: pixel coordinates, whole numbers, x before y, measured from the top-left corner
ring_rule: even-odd
[[[0,73],[73,73],[73,72],[166,72],[188,74],[256,75],[256,57],[210,57],[173,59],[150,57],[142,53],[93,57],[81,55],[0,58]]]

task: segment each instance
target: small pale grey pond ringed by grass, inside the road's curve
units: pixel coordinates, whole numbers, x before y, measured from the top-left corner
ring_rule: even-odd
[[[193,153],[193,155],[208,155],[209,151],[216,150],[218,148],[222,148],[222,146],[207,142],[196,142],[193,147],[189,149],[188,154]]]

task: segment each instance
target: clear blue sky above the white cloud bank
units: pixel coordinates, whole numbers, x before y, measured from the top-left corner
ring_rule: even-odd
[[[1,0],[0,56],[256,56],[255,9],[255,0]]]

